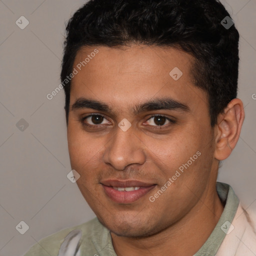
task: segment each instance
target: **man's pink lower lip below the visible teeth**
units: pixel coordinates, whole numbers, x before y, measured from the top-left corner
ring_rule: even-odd
[[[113,201],[119,202],[119,203],[134,202],[155,187],[155,185],[141,186],[137,190],[118,191],[118,190],[115,190],[112,186],[105,186],[105,185],[102,185],[102,186],[104,188],[106,195]]]

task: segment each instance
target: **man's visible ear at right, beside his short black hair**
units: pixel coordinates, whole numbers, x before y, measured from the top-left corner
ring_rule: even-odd
[[[217,160],[226,159],[238,141],[242,123],[244,120],[244,109],[239,98],[232,99],[223,113],[218,115],[215,125],[215,152]]]

